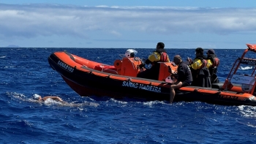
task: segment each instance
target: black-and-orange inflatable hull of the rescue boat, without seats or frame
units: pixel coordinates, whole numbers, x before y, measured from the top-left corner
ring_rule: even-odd
[[[78,64],[75,59],[70,53],[56,52],[49,56],[48,62],[80,96],[110,96],[116,99],[127,96],[145,100],[170,100],[170,83],[101,72],[92,66]],[[197,86],[176,90],[174,102],[179,101],[201,101],[217,105],[256,105],[252,95]]]

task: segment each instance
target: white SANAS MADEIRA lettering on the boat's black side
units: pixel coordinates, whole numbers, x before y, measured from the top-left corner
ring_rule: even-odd
[[[139,89],[144,89],[146,91],[154,91],[157,93],[161,93],[161,88],[157,87],[157,86],[148,86],[148,85],[144,85],[141,83],[132,83],[132,82],[128,82],[128,81],[123,81],[122,86],[127,86],[130,88],[139,88]]]

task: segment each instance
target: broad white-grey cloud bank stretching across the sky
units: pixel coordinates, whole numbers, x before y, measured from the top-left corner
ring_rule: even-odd
[[[255,8],[78,7],[59,4],[0,4],[1,37],[125,33],[255,33]]]

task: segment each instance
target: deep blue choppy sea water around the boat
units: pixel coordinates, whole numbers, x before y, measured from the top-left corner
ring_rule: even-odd
[[[113,64],[125,49],[0,48],[0,143],[255,143],[256,107],[81,97],[50,68],[56,51]],[[154,49],[137,49],[146,58]],[[225,80],[241,50],[215,50]],[[172,58],[192,49],[167,49]],[[252,69],[241,67],[242,70]],[[125,91],[124,91],[125,93]],[[35,102],[33,94],[64,101]]]

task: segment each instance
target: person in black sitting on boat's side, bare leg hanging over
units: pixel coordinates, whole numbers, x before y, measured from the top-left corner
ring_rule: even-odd
[[[174,74],[169,67],[169,72],[177,78],[176,83],[170,86],[170,103],[173,102],[175,96],[175,89],[183,86],[190,86],[193,79],[191,70],[189,69],[189,61],[182,61],[181,56],[174,56],[173,62],[178,65],[178,72]]]

